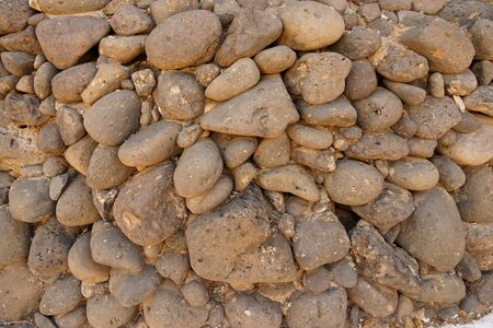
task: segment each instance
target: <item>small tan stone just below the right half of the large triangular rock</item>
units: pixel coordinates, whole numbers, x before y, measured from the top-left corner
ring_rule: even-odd
[[[277,138],[264,138],[253,154],[259,167],[272,168],[286,165],[290,156],[290,142],[286,132]]]

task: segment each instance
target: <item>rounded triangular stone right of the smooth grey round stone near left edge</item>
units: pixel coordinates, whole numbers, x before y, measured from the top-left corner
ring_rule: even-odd
[[[79,176],[70,181],[58,199],[56,215],[67,226],[88,225],[98,221],[100,215],[92,203],[92,191],[85,178]]]

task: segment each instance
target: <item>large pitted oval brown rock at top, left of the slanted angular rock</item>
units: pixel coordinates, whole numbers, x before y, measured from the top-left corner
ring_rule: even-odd
[[[213,59],[222,27],[217,15],[205,10],[176,13],[158,25],[146,39],[146,54],[162,70],[197,66]],[[162,49],[168,49],[163,52]]]

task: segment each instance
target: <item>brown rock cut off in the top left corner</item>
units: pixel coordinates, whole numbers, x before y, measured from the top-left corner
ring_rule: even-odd
[[[0,35],[14,33],[27,26],[28,17],[35,13],[28,0],[9,1],[0,4]]]

